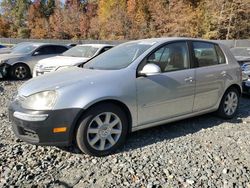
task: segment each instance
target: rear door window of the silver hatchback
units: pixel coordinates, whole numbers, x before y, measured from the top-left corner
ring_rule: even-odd
[[[222,50],[215,44],[193,42],[193,48],[199,67],[218,65],[226,62]]]

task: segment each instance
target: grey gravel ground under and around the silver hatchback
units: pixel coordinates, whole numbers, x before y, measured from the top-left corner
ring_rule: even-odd
[[[233,120],[209,114],[135,132],[95,158],[15,138],[7,106],[21,83],[0,82],[0,187],[250,188],[250,97]]]

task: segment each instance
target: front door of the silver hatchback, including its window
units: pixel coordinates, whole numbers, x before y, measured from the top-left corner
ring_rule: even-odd
[[[186,42],[166,44],[149,55],[138,67],[154,63],[162,73],[138,77],[138,125],[153,123],[192,112],[195,70],[190,69]]]

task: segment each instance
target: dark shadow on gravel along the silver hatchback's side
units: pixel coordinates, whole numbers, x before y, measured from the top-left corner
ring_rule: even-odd
[[[217,117],[214,113],[201,115],[174,123],[168,123],[157,127],[137,131],[131,133],[125,146],[118,151],[118,153],[126,152],[142,148],[164,140],[183,137],[188,134],[196,133],[202,129],[216,127],[222,123],[242,123],[242,118],[250,116],[250,96],[243,96],[241,98],[238,115],[230,120],[225,120]]]

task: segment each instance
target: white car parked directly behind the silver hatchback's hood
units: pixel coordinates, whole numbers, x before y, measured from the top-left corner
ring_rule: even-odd
[[[89,59],[114,47],[111,44],[77,45],[63,54],[39,61],[33,70],[33,77],[72,66],[79,66]]]

